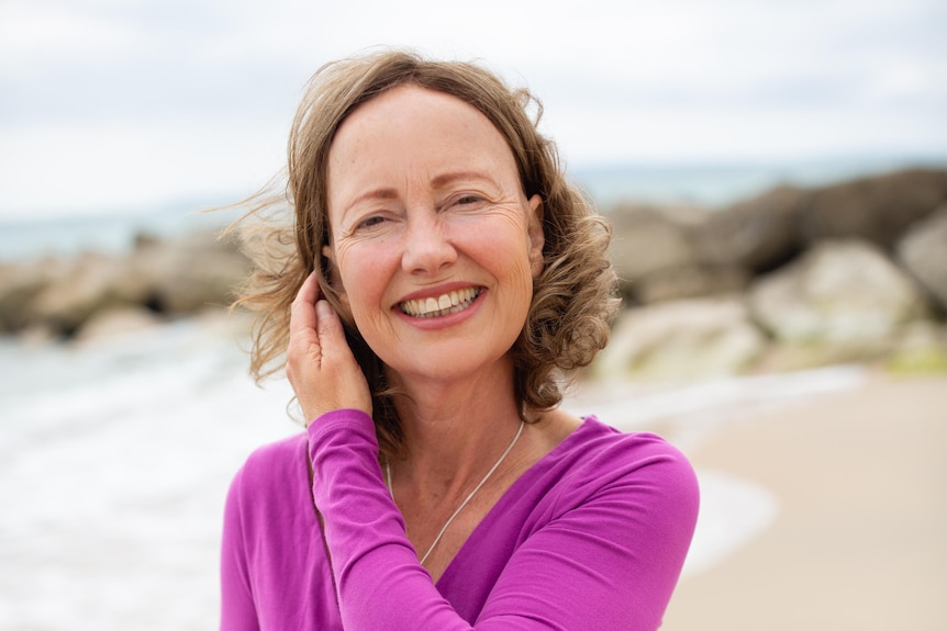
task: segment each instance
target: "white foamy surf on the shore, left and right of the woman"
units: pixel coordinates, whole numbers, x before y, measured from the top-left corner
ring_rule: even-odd
[[[257,387],[221,319],[94,343],[0,341],[0,629],[212,629],[224,497],[247,454],[301,427],[285,380]],[[579,390],[575,414],[659,428],[684,452],[762,408],[855,387],[859,369]],[[686,576],[766,529],[766,488],[699,471]]]

